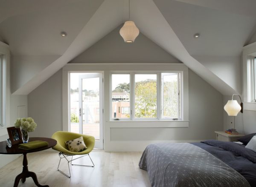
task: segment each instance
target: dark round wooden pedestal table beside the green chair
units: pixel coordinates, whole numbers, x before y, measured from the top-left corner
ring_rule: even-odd
[[[20,179],[24,183],[26,181],[26,178],[32,177],[33,181],[38,187],[49,187],[48,185],[41,185],[38,183],[37,176],[34,172],[31,172],[28,170],[28,160],[26,158],[26,154],[30,152],[38,152],[42,150],[47,150],[57,144],[57,141],[52,139],[52,138],[29,138],[29,141],[35,141],[35,140],[41,140],[41,141],[47,141],[48,146],[44,147],[39,147],[34,150],[21,150],[18,148],[18,144],[12,145],[11,148],[6,146],[6,141],[1,141],[0,142],[0,154],[23,154],[23,170],[22,172],[16,176],[15,182],[14,182],[14,187],[17,187]]]

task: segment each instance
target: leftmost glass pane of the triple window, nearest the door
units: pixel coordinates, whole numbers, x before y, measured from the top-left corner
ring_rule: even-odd
[[[112,74],[112,118],[130,118],[130,74]]]

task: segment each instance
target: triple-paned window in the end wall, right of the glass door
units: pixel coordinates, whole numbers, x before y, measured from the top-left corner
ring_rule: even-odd
[[[111,119],[182,119],[182,72],[111,75]]]

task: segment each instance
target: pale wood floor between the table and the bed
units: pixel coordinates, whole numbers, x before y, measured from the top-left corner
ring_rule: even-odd
[[[140,170],[138,163],[141,152],[93,151],[90,156],[95,167],[70,167],[72,177],[67,178],[57,171],[58,152],[29,153],[28,167],[37,174],[41,185],[50,187],[150,187],[148,174]],[[22,171],[23,156],[0,169],[0,187],[12,187],[16,175]],[[67,162],[62,159],[62,167],[68,172]],[[73,164],[90,164],[88,156]],[[19,187],[35,187],[32,178],[27,178]]]

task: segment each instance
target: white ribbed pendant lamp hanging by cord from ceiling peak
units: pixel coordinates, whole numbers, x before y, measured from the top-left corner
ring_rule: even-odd
[[[130,0],[129,0],[129,20],[130,20]],[[125,21],[125,24],[119,31],[120,35],[126,43],[133,43],[139,35],[140,30],[133,21]]]

